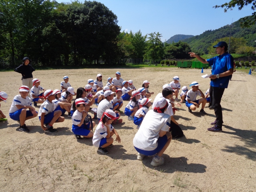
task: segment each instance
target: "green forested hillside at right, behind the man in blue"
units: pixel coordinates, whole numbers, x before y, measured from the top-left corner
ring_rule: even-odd
[[[246,40],[247,46],[256,47],[256,25],[253,25],[250,28],[241,28],[239,20],[232,23],[233,27],[231,30],[231,36],[236,38],[243,37]],[[217,39],[223,37],[229,37],[230,27],[223,26],[215,30],[207,30],[201,35],[190,37],[188,39],[182,40],[189,44],[192,52],[199,54],[208,53],[208,47],[216,41]],[[228,42],[227,42],[228,43]]]

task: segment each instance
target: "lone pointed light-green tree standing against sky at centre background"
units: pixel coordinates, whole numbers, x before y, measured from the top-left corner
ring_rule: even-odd
[[[144,60],[150,60],[155,63],[159,61],[164,56],[164,45],[161,41],[161,35],[159,32],[154,32],[148,34],[148,41],[146,45],[146,53],[144,54]]]

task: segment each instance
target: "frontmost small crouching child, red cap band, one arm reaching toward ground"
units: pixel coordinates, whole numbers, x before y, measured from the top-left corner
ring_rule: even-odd
[[[113,134],[116,135],[116,141],[118,141],[118,143],[121,142],[118,133],[111,125],[111,123],[118,118],[119,117],[116,117],[116,113],[113,110],[107,109],[106,112],[103,113],[100,122],[96,127],[92,138],[92,144],[93,146],[98,147],[98,151],[102,154],[107,154],[108,150],[106,148],[113,146]]]

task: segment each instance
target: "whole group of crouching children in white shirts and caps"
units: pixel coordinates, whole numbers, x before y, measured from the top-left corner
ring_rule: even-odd
[[[156,154],[151,162],[153,166],[164,163],[161,156],[172,137],[183,135],[180,128],[175,128],[179,126],[173,118],[175,110],[177,110],[174,106],[181,106],[180,103],[186,103],[188,112],[192,112],[199,108],[202,103],[200,113],[207,115],[204,106],[207,102],[210,103],[209,90],[204,96],[198,88],[197,82],[190,84],[192,87],[190,90],[187,86],[183,86],[180,93],[180,103],[175,102],[178,101],[180,90],[178,76],[174,76],[170,84],[163,86],[162,93],[157,94],[153,105],[152,99],[149,98],[154,92],[149,92],[150,83],[147,80],[143,81],[142,87],[137,90],[133,81],[123,80],[118,71],[115,78],[108,78],[106,86],[103,87],[102,75],[98,74],[96,80],[88,79],[88,84],[84,88],[79,87],[76,92],[68,82],[68,76],[64,76],[63,80],[60,83],[60,90],[44,89],[40,86],[39,79],[33,79],[33,87],[30,90],[27,86],[20,87],[20,94],[14,97],[9,112],[11,119],[18,121],[19,131],[29,132],[25,121],[38,116],[44,132],[57,132],[57,129],[53,128],[53,124],[63,122],[65,120],[63,116],[67,111],[68,117],[72,117],[72,132],[76,139],[82,139],[81,136],[92,138],[92,143],[98,148],[98,151],[106,154],[108,153],[107,147],[113,145],[113,134],[116,135],[116,141],[121,141],[111,124],[122,123],[120,114],[123,111],[120,109],[123,106],[123,101],[129,100],[124,114],[128,116],[128,120],[137,125],[138,132],[133,140],[134,147],[138,151],[137,158],[142,160],[144,156]],[[30,97],[28,97],[29,93]],[[73,96],[76,96],[76,99],[72,103]],[[202,98],[197,100],[197,96]],[[0,92],[0,101],[6,102],[7,98],[8,95],[5,92]],[[32,107],[32,101],[34,107],[38,103],[41,104],[38,112]],[[98,108],[90,108],[93,104],[96,104]],[[149,110],[151,105],[153,110]],[[94,112],[93,119],[99,120],[94,133],[92,131],[95,122],[88,114],[90,109]],[[0,120],[7,120],[1,110]],[[172,128],[170,127],[171,124],[173,124]]]

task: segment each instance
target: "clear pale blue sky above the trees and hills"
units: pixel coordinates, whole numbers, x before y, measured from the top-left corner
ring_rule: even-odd
[[[200,35],[209,29],[231,24],[241,17],[252,14],[250,6],[224,13],[213,6],[230,0],[99,0],[117,16],[122,30],[162,34],[161,40],[168,40],[177,34]],[[57,0],[57,2],[71,2]],[[84,1],[81,1],[84,2]]]

